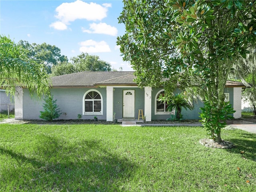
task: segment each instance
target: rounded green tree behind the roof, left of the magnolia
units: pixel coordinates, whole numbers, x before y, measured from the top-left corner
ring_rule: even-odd
[[[111,71],[111,65],[108,62],[100,60],[99,56],[82,53],[77,57],[71,58],[76,72],[82,71]]]

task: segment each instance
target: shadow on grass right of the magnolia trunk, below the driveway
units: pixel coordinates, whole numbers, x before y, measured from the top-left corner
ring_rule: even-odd
[[[241,154],[242,158],[256,161],[256,134],[242,133],[239,137],[230,138],[228,141],[235,144],[236,148],[229,150]]]

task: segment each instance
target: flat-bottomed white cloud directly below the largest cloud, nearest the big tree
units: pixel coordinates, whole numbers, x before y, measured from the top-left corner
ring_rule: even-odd
[[[82,28],[82,30],[86,33],[107,34],[112,36],[116,36],[118,32],[117,28],[110,26],[106,23],[91,23],[90,30],[86,30],[84,28]]]

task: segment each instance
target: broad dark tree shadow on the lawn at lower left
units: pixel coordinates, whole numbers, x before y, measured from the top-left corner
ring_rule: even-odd
[[[14,189],[122,191],[124,183],[132,178],[136,170],[136,165],[122,154],[109,150],[101,140],[83,139],[71,143],[40,135],[33,150],[29,154],[33,158],[29,158],[28,154],[25,156],[0,148],[1,154],[14,158],[22,167],[19,176],[3,178],[16,185]]]

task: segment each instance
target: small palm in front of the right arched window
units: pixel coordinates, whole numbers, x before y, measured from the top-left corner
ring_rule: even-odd
[[[186,110],[192,110],[192,107],[186,101],[185,96],[183,94],[176,94],[170,99],[170,103],[168,103],[168,107],[166,108],[166,110],[172,111],[172,109],[174,108],[177,111],[176,119],[180,120],[182,107]]]

